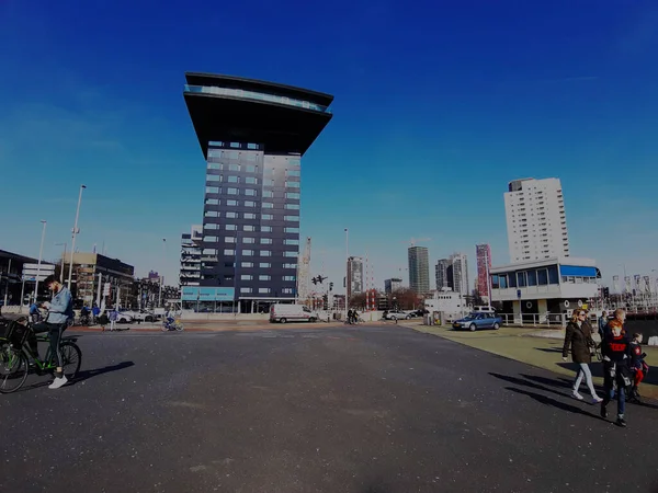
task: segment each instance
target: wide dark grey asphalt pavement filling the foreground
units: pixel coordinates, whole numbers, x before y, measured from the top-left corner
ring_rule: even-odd
[[[0,491],[658,492],[565,376],[402,326],[82,333],[78,379],[0,395]]]

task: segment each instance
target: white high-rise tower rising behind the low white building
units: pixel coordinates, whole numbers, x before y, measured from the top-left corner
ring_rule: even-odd
[[[559,179],[523,179],[504,194],[510,262],[569,256],[565,200]]]

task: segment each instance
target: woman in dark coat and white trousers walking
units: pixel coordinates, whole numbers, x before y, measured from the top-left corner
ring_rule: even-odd
[[[582,395],[578,390],[580,389],[580,383],[582,383],[582,377],[585,377],[587,387],[592,395],[592,404],[598,404],[603,399],[597,395],[594,383],[592,382],[592,372],[589,368],[590,363],[592,363],[590,347],[594,347],[594,341],[592,340],[592,326],[587,323],[586,319],[587,312],[585,310],[578,309],[574,311],[574,317],[567,324],[565,345],[563,346],[563,359],[567,360],[570,348],[571,359],[578,365],[578,375],[574,382],[571,395],[579,401],[582,400]]]

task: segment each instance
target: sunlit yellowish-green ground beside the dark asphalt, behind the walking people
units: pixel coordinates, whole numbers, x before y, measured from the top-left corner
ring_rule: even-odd
[[[453,331],[450,326],[429,326],[416,323],[405,323],[404,326],[418,332],[438,335],[476,349],[544,368],[569,379],[576,376],[576,365],[571,357],[565,363],[561,359],[564,331],[546,331],[544,329],[501,328],[498,331]],[[658,366],[658,348],[643,346],[647,353],[649,366]],[[657,363],[654,363],[657,362]],[[591,365],[595,386],[603,386],[603,370],[599,362]],[[585,390],[581,388],[581,393]],[[643,397],[658,399],[658,368],[651,369],[639,387]]]

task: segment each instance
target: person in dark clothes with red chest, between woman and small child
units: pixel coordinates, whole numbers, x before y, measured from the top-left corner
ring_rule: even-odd
[[[603,387],[605,397],[601,402],[601,417],[608,417],[608,403],[617,399],[617,420],[619,426],[626,426],[624,412],[626,409],[626,387],[631,386],[631,371],[628,363],[631,360],[631,341],[623,332],[622,322],[617,319],[611,320],[608,324],[610,330],[605,333],[605,339],[601,346],[603,355]]]

